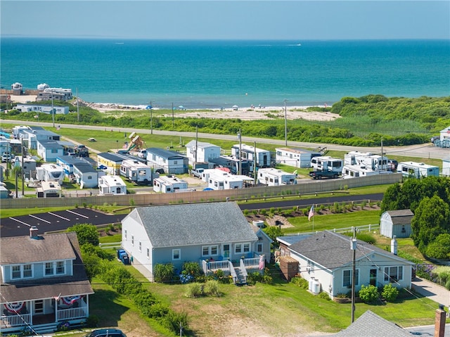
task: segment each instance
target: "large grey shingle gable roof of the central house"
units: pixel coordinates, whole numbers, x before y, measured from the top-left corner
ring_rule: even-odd
[[[141,207],[127,217],[143,223],[153,247],[257,241],[232,202]]]

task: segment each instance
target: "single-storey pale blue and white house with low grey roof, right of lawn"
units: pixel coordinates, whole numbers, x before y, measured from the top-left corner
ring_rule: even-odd
[[[281,255],[298,261],[298,274],[317,286],[316,289],[328,293],[331,298],[348,293],[352,288],[352,264],[355,254],[355,290],[361,285],[382,287],[392,284],[397,288],[411,288],[413,262],[394,253],[360,240],[354,243],[349,236],[322,231],[317,234],[298,237],[297,241],[277,238],[281,243]],[[397,249],[396,241],[391,250]],[[315,291],[313,291],[315,292]]]

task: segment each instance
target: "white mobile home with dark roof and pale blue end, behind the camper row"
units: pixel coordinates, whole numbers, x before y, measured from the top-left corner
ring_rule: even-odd
[[[147,148],[147,165],[167,174],[184,174],[188,173],[189,160],[178,152]]]

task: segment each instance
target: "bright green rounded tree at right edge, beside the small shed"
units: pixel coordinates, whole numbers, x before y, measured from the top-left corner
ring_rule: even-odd
[[[414,245],[425,254],[428,244],[435,241],[439,234],[450,231],[450,207],[439,196],[425,197],[411,221],[413,233],[411,237]]]

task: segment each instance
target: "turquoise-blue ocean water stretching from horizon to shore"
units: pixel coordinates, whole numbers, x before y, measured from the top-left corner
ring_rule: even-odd
[[[450,96],[450,41],[1,39],[1,87],[78,90],[160,108],[309,106],[343,96]]]

